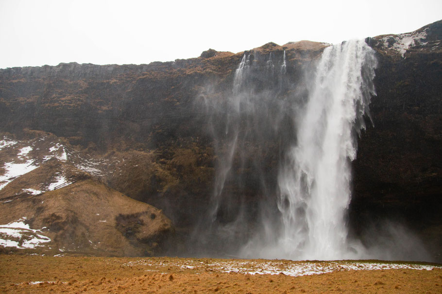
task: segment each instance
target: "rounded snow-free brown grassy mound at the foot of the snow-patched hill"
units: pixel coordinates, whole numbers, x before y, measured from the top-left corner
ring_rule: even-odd
[[[170,219],[153,206],[88,179],[39,196],[1,203],[0,224],[26,217],[52,242],[37,251],[144,255],[171,232]],[[151,252],[152,253],[152,252]],[[56,254],[56,253],[55,253]]]

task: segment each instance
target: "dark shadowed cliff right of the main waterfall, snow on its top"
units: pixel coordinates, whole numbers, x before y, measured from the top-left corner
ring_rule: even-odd
[[[351,219],[408,222],[436,239],[440,258],[442,22],[367,40],[377,51],[374,127],[359,139]],[[407,50],[405,50],[407,48]],[[365,222],[360,222],[364,224]],[[357,230],[363,230],[361,225]]]

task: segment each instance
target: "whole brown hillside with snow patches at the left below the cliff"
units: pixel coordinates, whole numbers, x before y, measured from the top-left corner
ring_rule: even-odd
[[[173,233],[160,210],[103,184],[89,173],[97,164],[55,136],[1,143],[2,252],[152,255]]]

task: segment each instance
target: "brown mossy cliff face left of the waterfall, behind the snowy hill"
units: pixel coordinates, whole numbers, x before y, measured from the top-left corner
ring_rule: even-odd
[[[324,47],[302,41],[252,51],[265,63],[271,52],[282,60],[285,49],[290,83],[296,84]],[[192,223],[192,211],[206,207],[216,164],[211,114],[202,100],[231,93],[242,57],[243,52],[217,52],[138,66],[69,63],[1,70],[1,130],[18,136],[26,128],[44,130],[98,157],[117,157],[121,163],[109,170],[117,168],[119,175],[107,173],[104,181],[163,208],[175,221]]]

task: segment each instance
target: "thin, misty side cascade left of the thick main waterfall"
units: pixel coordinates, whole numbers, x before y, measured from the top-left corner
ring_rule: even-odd
[[[281,109],[278,95],[287,92],[282,90],[287,83],[282,82],[281,63],[273,61],[281,61],[282,53],[275,56],[245,52],[235,71],[231,92],[224,92],[218,99],[210,99],[210,94],[204,96],[217,159],[209,209],[193,233],[197,243],[194,247],[202,251],[238,252],[254,232],[251,224],[259,218],[259,207],[247,203],[250,195],[256,193],[258,198],[274,195],[264,191],[275,190],[277,166],[271,173],[266,172],[267,163],[263,158],[251,156],[250,148],[262,154],[277,141],[274,129]],[[246,188],[252,185],[253,192]],[[249,195],[240,192],[242,189],[247,189]],[[271,201],[272,208],[277,210],[274,197]]]

